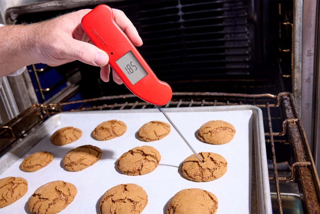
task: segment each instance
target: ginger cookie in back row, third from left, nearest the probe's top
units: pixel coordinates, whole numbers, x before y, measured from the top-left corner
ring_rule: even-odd
[[[170,125],[161,121],[150,121],[138,131],[141,141],[158,141],[167,136],[171,131]]]

